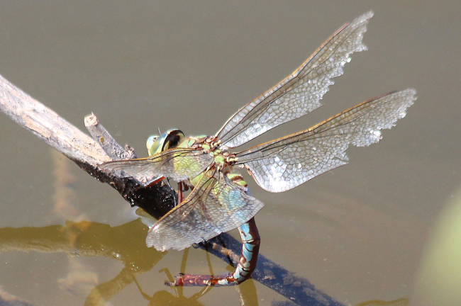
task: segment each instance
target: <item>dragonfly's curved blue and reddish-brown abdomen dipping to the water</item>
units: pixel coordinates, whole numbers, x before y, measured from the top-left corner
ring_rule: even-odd
[[[260,251],[260,234],[257,231],[255,218],[238,227],[242,237],[242,253],[238,260],[235,271],[220,276],[206,276],[193,274],[180,274],[172,283],[165,285],[172,286],[221,286],[238,285],[250,278],[255,271],[257,255]]]

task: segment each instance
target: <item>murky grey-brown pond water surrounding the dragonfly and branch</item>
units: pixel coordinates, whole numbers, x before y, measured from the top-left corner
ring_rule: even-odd
[[[352,56],[325,106],[257,141],[396,89],[417,89],[418,101],[379,145],[350,149],[348,166],[279,194],[251,182],[252,196],[265,203],[256,219],[261,253],[345,305],[401,298],[457,305],[461,267],[452,259],[460,251],[450,246],[460,244],[460,8],[455,1],[0,1],[0,74],[81,129],[94,112],[142,155],[157,128],[216,132],[343,23],[372,9],[369,51]],[[145,227],[116,191],[0,117],[4,293],[33,305],[101,298],[240,305],[236,288],[197,297],[200,288],[165,287],[165,269],[176,274],[183,253],[145,247]],[[226,271],[226,263],[211,263],[215,273]],[[191,249],[186,269],[208,273],[204,251]],[[248,305],[284,301],[258,283],[242,287]]]

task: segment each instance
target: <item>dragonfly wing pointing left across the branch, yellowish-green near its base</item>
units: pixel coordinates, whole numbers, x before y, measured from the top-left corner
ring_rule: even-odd
[[[177,148],[145,159],[128,159],[101,164],[99,168],[121,177],[132,177],[144,185],[165,176],[175,181],[196,177],[213,162],[201,149]]]

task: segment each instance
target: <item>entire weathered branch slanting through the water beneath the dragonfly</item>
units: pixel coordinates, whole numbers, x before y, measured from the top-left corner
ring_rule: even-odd
[[[114,176],[97,166],[104,162],[135,157],[133,149],[118,145],[99,124],[95,115],[85,118],[93,138],[80,131],[50,108],[36,101],[0,75],[0,110],[26,130],[75,162],[81,169],[103,183],[109,183],[130,205],[146,210],[159,218],[174,207],[174,191],[164,183],[143,187],[134,179]],[[225,245],[226,248],[223,248]],[[241,243],[228,234],[211,239],[201,247],[235,263],[240,257]],[[342,305],[314,288],[308,280],[278,266],[261,254],[252,278],[287,297],[296,305]]]

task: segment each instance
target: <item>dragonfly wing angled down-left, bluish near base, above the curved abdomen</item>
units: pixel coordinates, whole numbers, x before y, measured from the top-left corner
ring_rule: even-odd
[[[159,251],[182,250],[243,225],[262,206],[248,195],[246,188],[212,169],[181,205],[149,230],[146,244]]]

